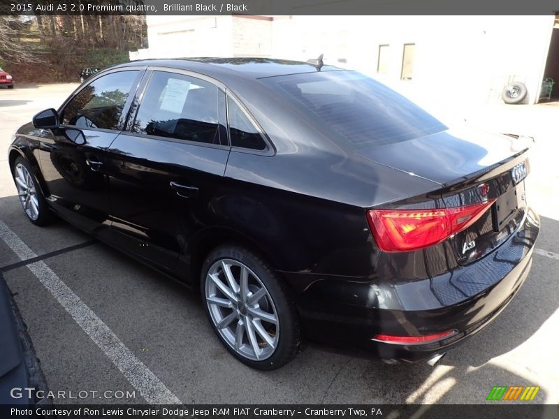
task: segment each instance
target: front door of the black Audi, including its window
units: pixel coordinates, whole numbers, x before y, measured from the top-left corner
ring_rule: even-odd
[[[52,206],[88,233],[110,239],[107,149],[124,126],[145,68],[112,71],[85,85],[59,110],[61,124],[40,147]]]

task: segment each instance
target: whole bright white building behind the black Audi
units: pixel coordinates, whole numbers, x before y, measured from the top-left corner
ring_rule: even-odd
[[[557,82],[559,16],[147,16],[149,48],[131,59],[274,57],[326,64],[379,78],[415,98],[501,101],[510,82],[544,100]],[[547,99],[545,99],[547,100]]]

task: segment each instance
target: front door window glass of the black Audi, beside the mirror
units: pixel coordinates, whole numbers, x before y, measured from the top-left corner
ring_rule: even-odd
[[[79,128],[120,129],[124,104],[138,70],[110,73],[87,84],[62,111],[63,124]]]

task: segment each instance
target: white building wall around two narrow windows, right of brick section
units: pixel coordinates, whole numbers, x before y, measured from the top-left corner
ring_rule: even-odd
[[[429,101],[500,101],[509,80],[539,93],[553,15],[549,16],[293,16],[275,18],[275,57],[304,59],[375,75]],[[403,45],[415,43],[414,77],[400,80]],[[390,71],[377,76],[379,45],[389,44]],[[340,59],[346,59],[344,64]]]

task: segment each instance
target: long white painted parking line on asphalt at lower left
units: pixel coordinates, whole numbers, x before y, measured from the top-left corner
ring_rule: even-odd
[[[2,221],[0,221],[0,237],[21,260],[37,257],[36,253]],[[27,267],[148,403],[181,404],[177,396],[173,395],[166,385],[131,353],[129,348],[126,348],[117,335],[64,284],[55,272],[50,270],[46,263],[40,260]]]

